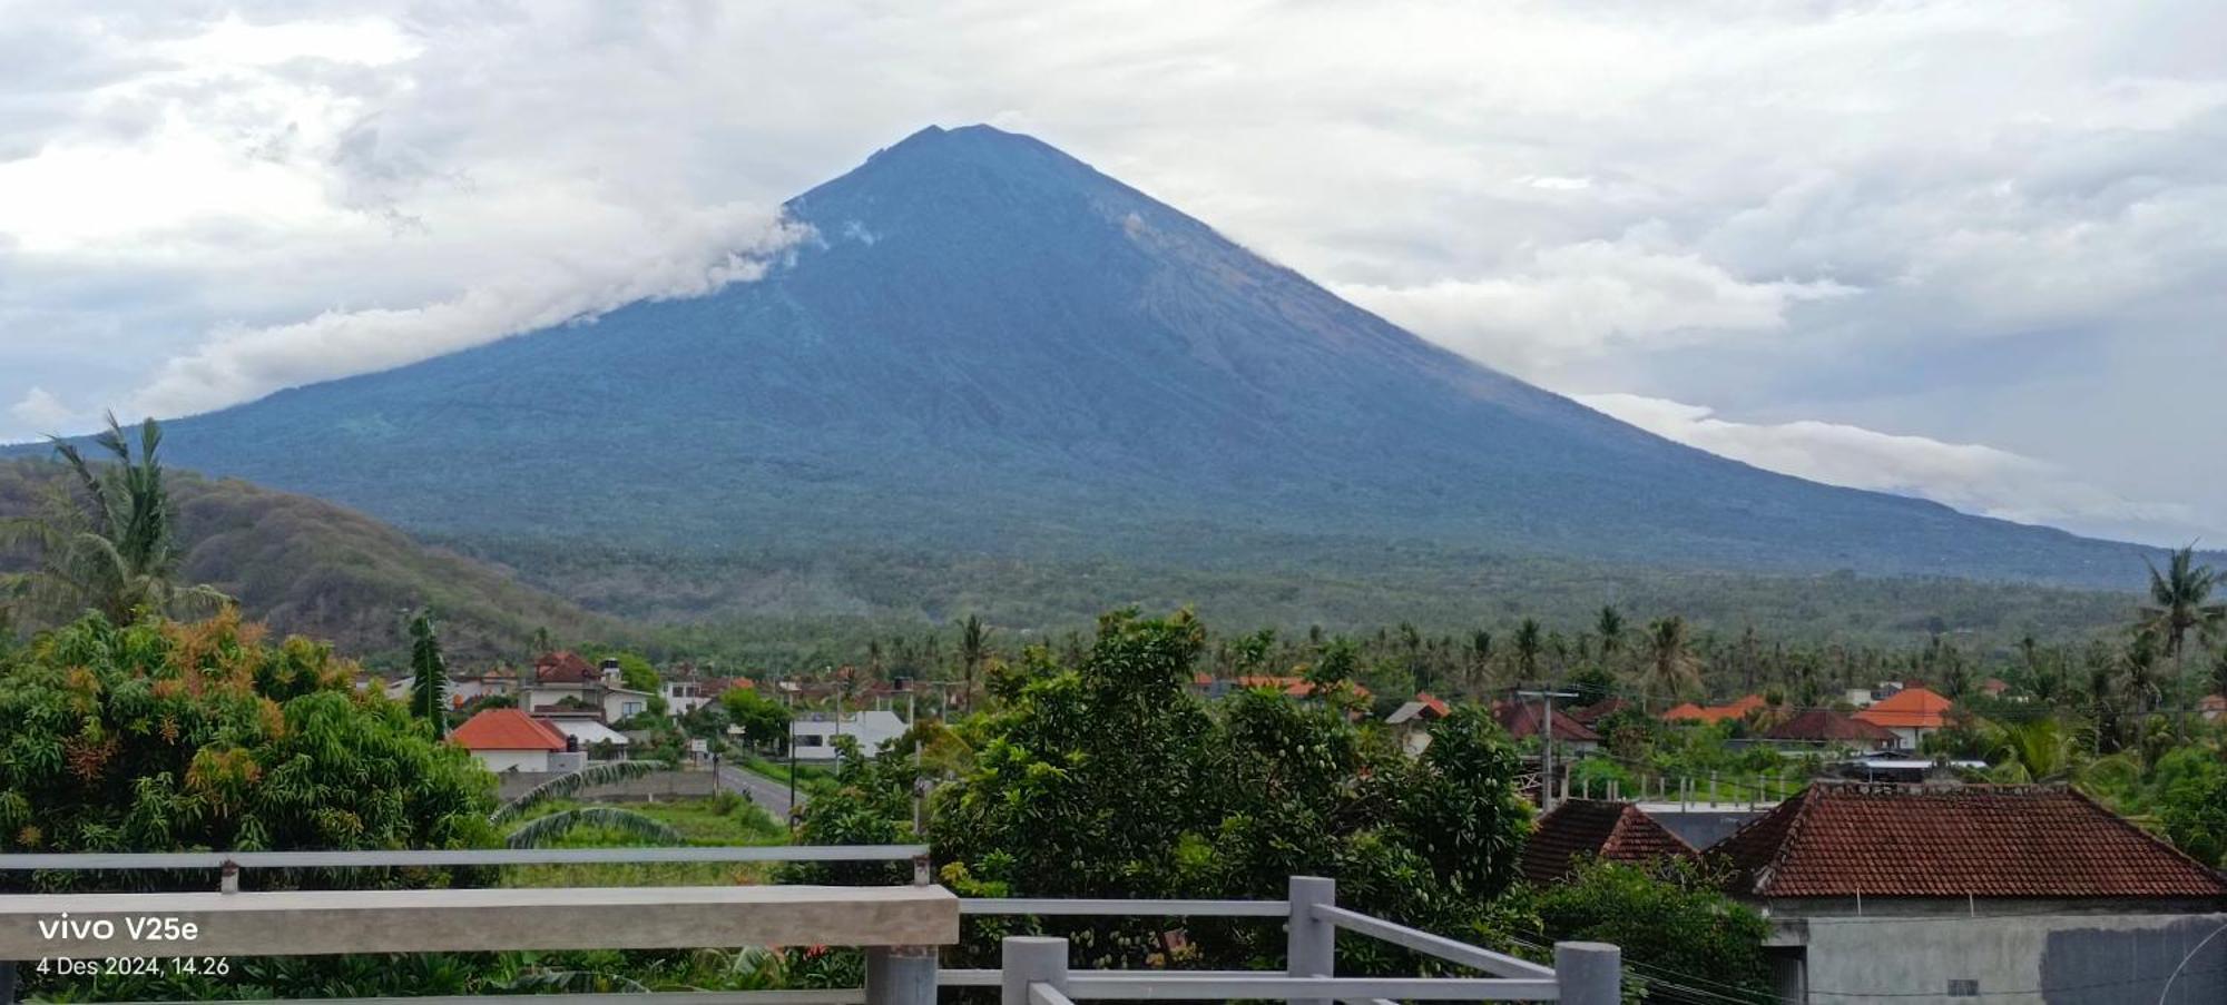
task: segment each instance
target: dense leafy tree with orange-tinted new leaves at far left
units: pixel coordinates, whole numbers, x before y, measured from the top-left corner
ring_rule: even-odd
[[[258,638],[234,611],[122,627],[94,614],[9,656],[0,852],[494,843],[494,776],[470,754],[359,694],[327,647]]]

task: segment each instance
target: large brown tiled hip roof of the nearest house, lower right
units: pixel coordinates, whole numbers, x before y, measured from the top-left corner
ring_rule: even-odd
[[[2220,874],[2058,785],[1815,783],[1708,856],[1762,898],[2227,896]]]

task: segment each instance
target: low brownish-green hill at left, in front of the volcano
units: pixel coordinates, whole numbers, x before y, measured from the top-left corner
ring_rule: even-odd
[[[0,462],[0,518],[33,514],[60,465]],[[401,616],[432,607],[452,663],[528,651],[534,629],[583,638],[608,627],[506,569],[412,540],[363,514],[241,480],[171,474],[185,578],[209,583],[278,634],[330,640],[341,654],[392,663]],[[0,554],[0,569],[24,556]]]

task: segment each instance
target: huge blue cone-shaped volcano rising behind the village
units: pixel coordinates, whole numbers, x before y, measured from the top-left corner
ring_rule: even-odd
[[[762,282],[180,420],[171,456],[416,531],[646,549],[1403,540],[2113,587],[2145,554],[1672,445],[1031,138],[929,129],[788,211],[820,240]]]

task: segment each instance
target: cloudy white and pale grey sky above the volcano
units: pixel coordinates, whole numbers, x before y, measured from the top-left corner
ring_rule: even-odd
[[[0,0],[0,442],[744,282],[969,122],[1655,434],[2227,543],[2180,0]]]

